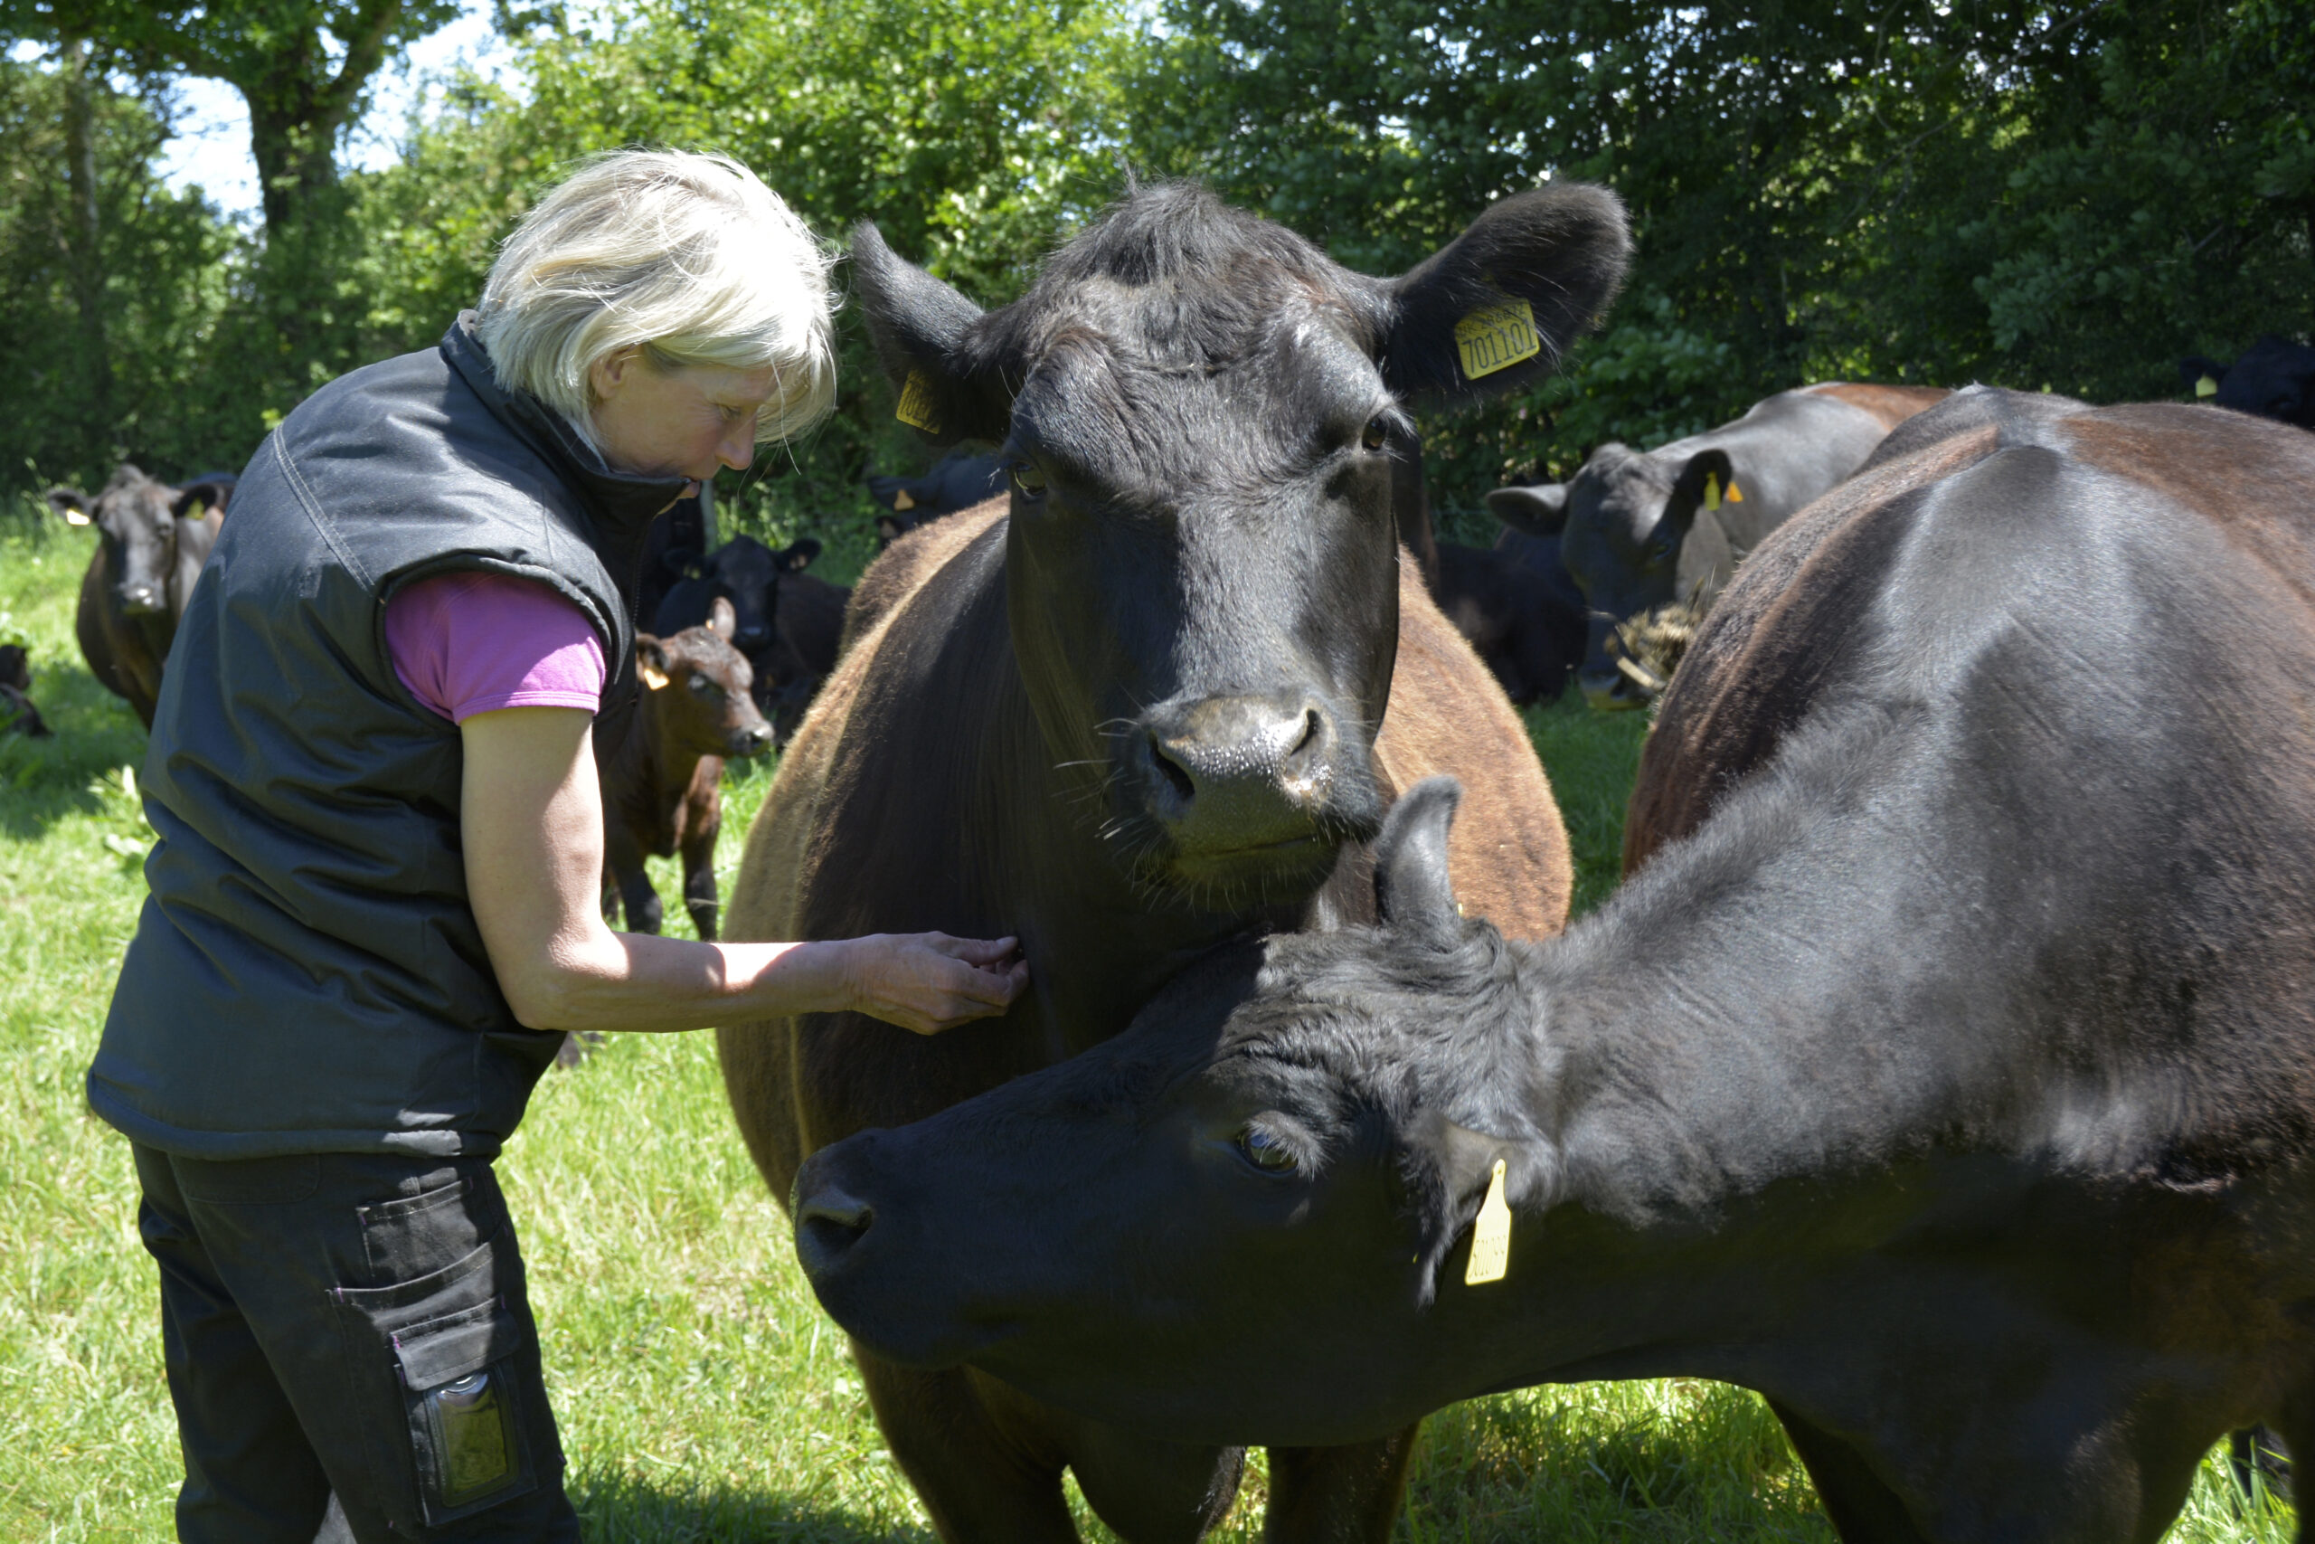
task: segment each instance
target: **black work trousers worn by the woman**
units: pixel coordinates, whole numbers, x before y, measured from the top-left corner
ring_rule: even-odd
[[[181,1539],[579,1537],[488,1160],[137,1146],[137,1178]]]

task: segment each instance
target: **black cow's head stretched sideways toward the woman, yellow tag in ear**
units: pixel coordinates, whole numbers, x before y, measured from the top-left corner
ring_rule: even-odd
[[[1472,1218],[1498,1160],[1523,1213],[1560,1181],[1507,1065],[1519,963],[1447,887],[1452,810],[1442,778],[1391,813],[1380,928],[1234,947],[1125,1035],[813,1155],[822,1306],[877,1356],[1171,1440],[1375,1438],[1486,1387],[1539,1234],[1472,1287]]]

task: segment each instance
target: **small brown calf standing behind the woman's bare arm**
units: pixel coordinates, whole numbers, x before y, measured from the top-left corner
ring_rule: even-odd
[[[725,757],[771,748],[755,706],[755,674],[732,646],[732,602],[718,597],[704,627],[634,641],[644,681],[634,725],[602,762],[602,914],[625,900],[627,931],[660,931],[660,894],[644,854],[683,854],[683,907],[699,938],[715,938],[715,833],[722,829]]]

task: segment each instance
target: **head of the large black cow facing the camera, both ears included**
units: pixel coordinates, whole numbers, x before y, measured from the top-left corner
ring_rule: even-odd
[[[1625,252],[1616,199],[1560,185],[1377,280],[1162,185],[982,313],[854,231],[901,417],[1002,444],[1014,657],[1046,752],[1151,894],[1294,900],[1373,836],[1408,405],[1549,370]]]

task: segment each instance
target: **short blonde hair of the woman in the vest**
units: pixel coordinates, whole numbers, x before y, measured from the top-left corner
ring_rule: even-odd
[[[588,444],[588,370],[630,347],[660,370],[769,366],[755,438],[787,440],[836,405],[831,264],[729,155],[611,150],[514,227],[475,331],[500,384],[560,412]]]

